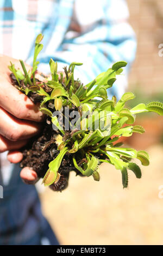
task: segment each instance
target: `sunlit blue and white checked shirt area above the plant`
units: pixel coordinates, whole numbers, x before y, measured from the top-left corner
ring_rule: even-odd
[[[53,58],[60,70],[82,62],[76,78],[85,84],[118,60],[128,62],[127,74],[136,50],[128,17],[124,0],[1,0],[0,53],[32,64],[36,35],[43,33],[43,72]],[[109,92],[120,97],[126,87],[127,76],[120,76]]]

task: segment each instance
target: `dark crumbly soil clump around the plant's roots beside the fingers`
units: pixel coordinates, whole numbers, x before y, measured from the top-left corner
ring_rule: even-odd
[[[26,166],[32,167],[39,178],[43,178],[48,170],[49,162],[55,159],[59,154],[55,143],[52,143],[44,149],[45,145],[48,145],[49,142],[52,141],[54,135],[57,135],[57,133],[52,129],[52,125],[45,124],[40,135],[34,137],[26,147],[22,149],[23,160],[21,162],[21,168]],[[73,162],[71,155],[65,155],[61,162],[59,173],[63,175],[67,174],[72,170],[72,168]]]

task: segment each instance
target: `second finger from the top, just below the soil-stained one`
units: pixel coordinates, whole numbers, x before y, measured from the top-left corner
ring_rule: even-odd
[[[27,139],[40,131],[39,123],[15,118],[1,107],[0,120],[0,134],[10,141]]]

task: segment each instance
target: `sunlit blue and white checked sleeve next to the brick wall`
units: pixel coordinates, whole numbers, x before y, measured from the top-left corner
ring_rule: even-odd
[[[113,63],[125,60],[127,68],[109,89],[110,96],[119,98],[127,87],[127,74],[136,52],[135,33],[128,17],[124,0],[76,0],[71,25],[51,56],[58,61],[59,70],[71,62],[82,62],[75,76],[86,84]],[[40,68],[45,70],[45,65],[42,63]]]

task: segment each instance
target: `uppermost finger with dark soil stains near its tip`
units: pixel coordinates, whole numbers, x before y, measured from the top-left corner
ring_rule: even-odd
[[[17,118],[42,121],[39,105],[34,104],[27,95],[16,89],[7,79],[0,81],[0,106]]]

